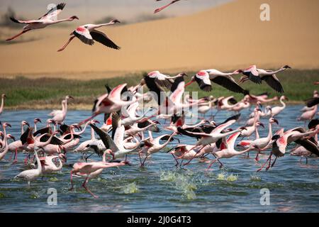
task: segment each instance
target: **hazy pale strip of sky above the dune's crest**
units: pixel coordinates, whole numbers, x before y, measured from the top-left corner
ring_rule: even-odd
[[[65,0],[67,11],[64,16],[77,15],[82,20],[94,21],[106,16],[116,16],[122,20],[130,20],[169,3],[171,0]],[[164,16],[181,16],[224,4],[232,0],[184,0],[162,11]],[[18,16],[33,18],[42,16],[49,4],[60,1],[52,0],[1,0],[0,13],[11,7]]]

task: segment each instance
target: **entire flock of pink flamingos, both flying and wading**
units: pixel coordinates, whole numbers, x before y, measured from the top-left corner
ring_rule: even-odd
[[[19,21],[11,18],[16,23],[26,24],[23,31],[13,38],[33,29],[77,19],[77,16],[71,16],[57,20],[57,15],[64,7],[65,4],[58,4],[56,8],[51,9],[37,20]],[[118,22],[113,20],[100,25],[79,26],[71,33],[71,38],[60,51],[64,50],[75,37],[89,45],[96,40],[109,48],[119,49],[118,45],[104,33],[96,30],[101,26]],[[247,81],[253,82],[256,86],[266,82],[274,91],[282,94],[284,89],[276,74],[283,74],[289,68],[288,65],[284,65],[279,70],[272,71],[258,69],[252,65],[245,70],[229,73],[214,69],[201,70],[191,77],[188,83],[184,81],[187,77],[185,73],[172,77],[159,71],[150,72],[145,74],[140,83],[134,87],[119,84],[111,88],[106,85],[106,94],[94,101],[92,115],[84,121],[71,125],[65,124],[65,118],[68,102],[74,98],[65,96],[65,99],[62,100],[62,110],[52,111],[49,114],[50,118],[46,120],[45,127],[38,128],[38,123],[43,121],[40,118],[34,119],[33,126],[30,126],[27,121],[21,121],[19,140],[15,140],[9,133],[10,123],[0,121],[2,128],[0,131],[0,160],[4,160],[6,155],[11,153],[8,160],[12,160],[14,155],[13,164],[15,164],[20,161],[17,153],[26,153],[26,158],[21,162],[26,165],[32,163],[33,169],[21,172],[16,178],[24,179],[30,185],[30,182],[40,176],[62,170],[63,164],[67,162],[67,153],[82,154],[81,162],[74,163],[70,172],[72,184],[70,190],[73,188],[72,177],[84,177],[82,186],[92,196],[97,197],[87,187],[89,179],[99,176],[106,168],[130,165],[128,161],[130,155],[138,155],[142,167],[148,159],[152,158],[152,155],[159,153],[172,140],[179,140],[180,136],[195,138],[197,142],[195,144],[179,143],[167,152],[174,157],[176,167],[186,166],[198,160],[207,162],[207,170],[209,170],[215,162],[222,167],[221,160],[224,158],[237,155],[249,157],[250,153],[254,152],[256,162],[259,162],[259,155],[269,155],[267,161],[257,171],[263,170],[267,163],[266,170],[269,170],[274,166],[278,157],[286,154],[287,145],[293,142],[297,144],[297,147],[291,150],[291,155],[316,157],[319,155],[319,121],[318,118],[313,118],[317,114],[318,92],[314,91],[313,97],[308,99],[306,106],[302,109],[303,113],[298,118],[298,121],[304,121],[305,127],[291,128],[286,131],[281,128],[273,132],[272,125],[279,124],[276,116],[284,114],[285,101],[288,100],[286,96],[282,95],[280,98],[275,96],[270,99],[268,94],[253,95],[240,87],[240,84]],[[238,82],[234,79],[236,75],[241,75]],[[211,92],[213,84],[218,84],[230,92],[242,94],[244,98],[240,101],[236,101],[233,96],[218,98],[206,96],[201,99],[193,99],[192,96],[184,95],[185,87],[193,82],[196,82],[198,88],[205,92]],[[143,87],[147,87],[149,92],[141,92]],[[6,95],[2,94],[0,114],[4,111],[5,99]],[[267,105],[277,100],[280,101],[279,106],[263,106],[263,104]],[[146,109],[144,104],[150,101],[155,102],[155,105],[152,106],[153,108]],[[239,128],[231,128],[236,122],[238,123],[240,111],[251,107],[253,107],[252,113],[247,122]],[[212,109],[216,109],[216,114],[220,111],[230,111],[234,115],[223,122],[211,121],[212,119],[208,121],[206,114],[211,113]],[[98,126],[99,121],[94,119],[99,114],[104,114],[104,122],[101,126]],[[186,117],[189,117],[190,114],[198,114],[203,117],[203,120],[196,125],[186,125]],[[157,118],[165,119],[165,122],[168,120],[170,123],[167,126],[161,126],[159,121],[156,121]],[[269,119],[268,126],[266,126],[268,135],[264,138],[260,138],[258,133],[261,127],[265,128],[260,118]],[[91,128],[91,139],[83,141],[81,135],[88,127]],[[153,137],[152,133],[159,131],[170,131],[170,133],[162,134],[157,138]],[[241,140],[236,143],[238,137]],[[99,155],[102,160],[92,161],[89,159],[91,155]]]

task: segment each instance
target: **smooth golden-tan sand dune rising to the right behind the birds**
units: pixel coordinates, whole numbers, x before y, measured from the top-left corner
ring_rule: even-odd
[[[93,79],[142,70],[233,70],[251,64],[319,68],[319,1],[269,0],[267,22],[259,19],[263,3],[239,0],[191,16],[101,28],[120,51],[74,40],[64,52],[56,52],[70,28],[33,31],[26,37],[40,40],[0,45],[0,76]]]

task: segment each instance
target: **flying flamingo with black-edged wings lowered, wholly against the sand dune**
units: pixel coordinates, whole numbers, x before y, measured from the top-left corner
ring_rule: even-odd
[[[87,45],[93,45],[95,40],[96,42],[99,42],[108,48],[120,50],[121,48],[115,43],[113,43],[113,41],[110,38],[108,38],[108,36],[105,33],[102,33],[101,31],[96,30],[96,28],[101,28],[103,26],[111,26],[116,23],[120,23],[120,21],[112,20],[108,23],[86,24],[84,26],[79,26],[70,34],[71,37],[69,38],[69,40],[67,40],[67,43],[65,43],[65,45],[63,45],[62,48],[60,48],[57,51],[60,52],[62,50],[65,50],[67,45],[69,45],[69,43],[75,37],[79,38],[79,40],[81,40],[83,43]]]

